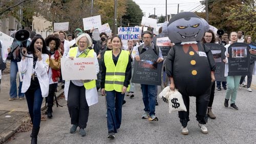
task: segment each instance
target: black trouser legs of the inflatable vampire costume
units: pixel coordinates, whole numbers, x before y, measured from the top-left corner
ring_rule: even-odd
[[[209,87],[204,94],[194,95],[196,97],[196,111],[197,111],[196,117],[197,117],[197,121],[200,124],[207,123],[206,112],[207,112],[207,107],[208,107],[208,103],[209,103],[210,89],[211,89],[211,87]],[[183,127],[186,127],[187,122],[189,121],[189,95],[185,92],[184,93],[181,92],[181,94],[182,94],[182,98],[183,98],[183,101],[184,101],[187,111],[179,111],[178,113],[179,113],[181,125]]]

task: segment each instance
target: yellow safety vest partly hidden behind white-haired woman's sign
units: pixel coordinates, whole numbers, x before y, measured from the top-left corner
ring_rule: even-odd
[[[69,50],[69,56],[76,58],[77,52],[78,52],[78,47],[71,47],[71,49]],[[93,49],[88,52],[87,56],[84,53],[82,53],[78,56],[78,58],[88,58],[88,57],[92,57],[92,58],[94,57]],[[96,81],[92,80],[90,82],[83,83],[83,86],[86,89],[92,89],[92,88],[96,87]]]

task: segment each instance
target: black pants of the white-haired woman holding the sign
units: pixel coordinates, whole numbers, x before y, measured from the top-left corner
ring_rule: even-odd
[[[86,88],[76,86],[70,82],[68,93],[68,109],[71,117],[71,124],[79,128],[86,128],[89,117],[89,106],[86,101]]]

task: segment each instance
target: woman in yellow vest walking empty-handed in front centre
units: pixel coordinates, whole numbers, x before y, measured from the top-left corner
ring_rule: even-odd
[[[105,51],[102,60],[101,94],[106,95],[108,138],[114,139],[122,121],[124,94],[132,78],[132,58],[121,50],[121,38],[111,39],[112,51]]]

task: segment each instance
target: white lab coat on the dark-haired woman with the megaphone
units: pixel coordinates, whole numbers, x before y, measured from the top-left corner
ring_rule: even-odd
[[[27,56],[33,57],[33,54]],[[42,54],[42,60],[36,61],[35,73],[37,75],[39,85],[41,88],[42,97],[47,97],[49,93],[49,78],[47,71],[49,69],[49,55]],[[20,73],[24,74],[22,93],[25,93],[30,86],[32,70],[33,70],[33,58],[25,58],[21,60],[19,64]]]

